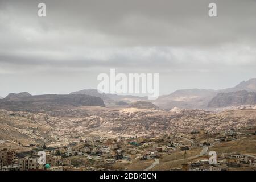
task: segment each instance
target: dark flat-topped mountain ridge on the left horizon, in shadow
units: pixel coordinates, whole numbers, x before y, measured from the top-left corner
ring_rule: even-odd
[[[79,106],[102,106],[104,101],[100,97],[85,94],[57,95],[47,94],[31,96],[27,92],[10,93],[0,100],[0,109],[11,111],[29,111],[31,113],[61,110]]]

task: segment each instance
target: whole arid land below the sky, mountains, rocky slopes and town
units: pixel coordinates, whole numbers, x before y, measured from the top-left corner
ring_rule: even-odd
[[[0,100],[0,150],[15,151],[9,168],[24,170],[43,169],[38,151],[52,170],[255,170],[255,79],[242,85],[178,90],[174,103],[174,94],[150,102],[93,89],[9,94]],[[214,166],[209,151],[217,153]],[[21,168],[22,159],[34,166]]]

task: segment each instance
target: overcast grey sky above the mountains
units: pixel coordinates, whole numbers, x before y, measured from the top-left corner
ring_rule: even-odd
[[[255,0],[0,0],[0,96],[97,88],[110,68],[159,73],[160,94],[232,87],[256,78],[255,32]]]

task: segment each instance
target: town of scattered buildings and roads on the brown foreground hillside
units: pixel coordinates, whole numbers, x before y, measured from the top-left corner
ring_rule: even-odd
[[[255,170],[256,152],[250,144],[255,128],[109,138],[92,136],[64,146],[30,146],[26,150],[0,148],[2,171],[86,170]],[[4,142],[0,140],[0,142]],[[40,151],[45,152],[40,163]],[[211,163],[210,151],[216,152]]]

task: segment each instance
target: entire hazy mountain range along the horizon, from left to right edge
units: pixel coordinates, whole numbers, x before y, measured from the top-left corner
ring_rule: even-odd
[[[147,97],[98,93],[96,89],[84,89],[68,95],[49,94],[31,96],[27,92],[9,94],[0,100],[0,109],[46,111],[76,106],[107,106],[140,108],[159,107],[170,110],[180,109],[209,109],[227,106],[254,105],[256,92],[256,78],[242,81],[234,88],[222,90],[183,89],[159,96],[157,100],[147,100]],[[147,102],[138,102],[147,101]],[[148,104],[151,102],[152,105]]]

